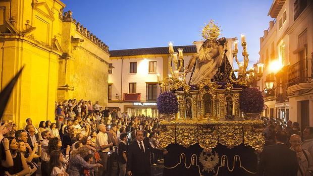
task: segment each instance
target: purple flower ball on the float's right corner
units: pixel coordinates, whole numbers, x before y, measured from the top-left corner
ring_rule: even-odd
[[[240,110],[244,113],[260,113],[264,109],[262,92],[256,87],[248,87],[240,93]]]

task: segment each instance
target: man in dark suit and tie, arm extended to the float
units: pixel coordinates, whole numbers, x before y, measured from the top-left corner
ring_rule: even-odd
[[[151,163],[150,155],[153,153],[162,153],[161,150],[153,149],[149,141],[143,141],[143,132],[136,132],[136,140],[133,141],[127,152],[127,175],[129,176],[150,176]],[[164,154],[167,153],[165,150]]]

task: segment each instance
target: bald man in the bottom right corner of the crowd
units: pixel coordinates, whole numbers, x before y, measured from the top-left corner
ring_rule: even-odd
[[[290,149],[296,151],[299,163],[297,175],[311,175],[313,173],[313,160],[307,150],[301,148],[301,137],[299,135],[291,135],[289,140]]]

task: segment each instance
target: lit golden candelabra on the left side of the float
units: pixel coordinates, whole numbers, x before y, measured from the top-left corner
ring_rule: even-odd
[[[180,87],[184,87],[184,90],[189,89],[189,86],[186,84],[186,73],[179,73],[179,71],[183,67],[183,49],[184,48],[178,48],[178,52],[174,52],[173,42],[169,42],[170,60],[168,65],[170,68],[170,74],[168,75],[168,77],[165,77],[163,79],[161,79],[160,73],[156,74],[156,76],[158,76],[158,84],[160,85],[162,92],[176,90]],[[180,64],[178,64],[178,61],[180,62]],[[174,70],[172,68],[172,62],[174,64]]]

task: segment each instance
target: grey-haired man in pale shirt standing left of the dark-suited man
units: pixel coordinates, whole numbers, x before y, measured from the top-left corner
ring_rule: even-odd
[[[95,147],[97,151],[99,152],[99,155],[101,158],[100,164],[103,165],[103,167],[99,167],[98,176],[102,176],[108,170],[107,168],[108,155],[109,155],[108,152],[110,152],[110,147],[113,146],[113,143],[111,142],[109,144],[108,142],[107,128],[105,125],[100,124],[98,126],[98,131],[99,133],[97,134],[97,137],[95,138]]]

